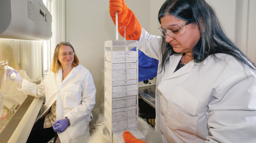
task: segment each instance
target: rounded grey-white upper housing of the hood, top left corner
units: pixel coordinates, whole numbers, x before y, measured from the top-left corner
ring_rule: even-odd
[[[0,38],[49,40],[52,16],[41,0],[0,1]]]

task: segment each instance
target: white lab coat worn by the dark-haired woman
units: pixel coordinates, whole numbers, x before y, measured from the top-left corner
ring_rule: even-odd
[[[161,37],[143,28],[139,49],[159,60]],[[190,61],[181,54],[158,70],[156,122],[162,142],[256,142],[256,74],[232,56]]]

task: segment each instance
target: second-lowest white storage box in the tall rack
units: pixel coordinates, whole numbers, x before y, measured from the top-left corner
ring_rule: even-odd
[[[138,117],[137,106],[111,109],[110,106],[108,105],[108,103],[106,103],[106,102],[105,102],[104,106],[105,106],[104,114],[108,115],[112,121],[125,119],[125,118],[131,118],[131,117]]]

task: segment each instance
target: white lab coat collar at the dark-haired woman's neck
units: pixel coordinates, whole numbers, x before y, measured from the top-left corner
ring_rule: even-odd
[[[194,60],[192,60],[189,63],[187,63],[184,67],[182,67],[179,70],[177,70],[176,72],[174,72],[181,60],[182,55],[183,55],[183,53],[177,53],[177,54],[173,54],[169,57],[169,67],[168,67],[168,70],[165,71],[165,72],[167,72],[166,73],[167,75],[166,75],[166,77],[163,77],[163,80],[184,75],[184,74],[190,72],[190,70],[194,66],[204,66],[206,64],[206,62],[208,61],[207,60],[208,58],[206,58],[202,63],[196,63]]]

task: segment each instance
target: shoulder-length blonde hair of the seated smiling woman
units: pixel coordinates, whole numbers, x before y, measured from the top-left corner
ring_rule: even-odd
[[[58,61],[58,55],[59,55],[59,47],[63,46],[63,45],[71,47],[73,49],[73,52],[75,53],[75,49],[74,49],[74,47],[70,43],[68,43],[68,42],[60,42],[59,44],[57,44],[57,46],[56,46],[56,48],[54,50],[53,62],[52,62],[52,66],[51,66],[51,71],[54,72],[54,73],[57,73],[59,71],[59,69],[61,68],[61,64]],[[77,55],[75,53],[74,54],[74,61],[72,63],[72,67],[76,67],[78,65],[79,65],[79,60],[78,60],[78,57],[77,57]]]

